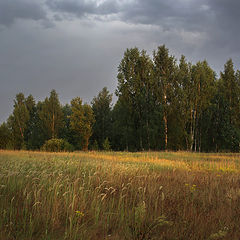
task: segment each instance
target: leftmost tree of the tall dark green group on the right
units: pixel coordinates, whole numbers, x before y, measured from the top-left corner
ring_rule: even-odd
[[[122,121],[116,122],[114,126],[118,125],[124,133],[122,137],[125,139],[125,149],[128,150],[130,145],[132,150],[150,149],[151,113],[155,102],[153,65],[145,51],[139,52],[137,48],[125,51],[118,67],[116,95],[118,103],[114,113],[118,113],[119,117],[115,119]],[[134,137],[129,136],[131,132]]]

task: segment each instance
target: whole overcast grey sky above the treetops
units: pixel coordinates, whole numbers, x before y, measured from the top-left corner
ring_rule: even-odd
[[[0,0],[0,123],[17,93],[62,104],[114,93],[127,48],[170,54],[219,73],[240,69],[239,0]]]

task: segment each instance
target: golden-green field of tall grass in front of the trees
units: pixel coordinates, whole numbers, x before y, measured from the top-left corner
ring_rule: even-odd
[[[0,239],[240,239],[240,154],[0,151]]]

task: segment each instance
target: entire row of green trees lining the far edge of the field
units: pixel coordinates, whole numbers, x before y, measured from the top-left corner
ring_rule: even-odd
[[[55,90],[38,103],[17,94],[0,126],[0,148],[240,150],[240,71],[231,59],[218,78],[206,60],[177,61],[164,45],[152,58],[132,48],[124,53],[117,80],[114,106],[106,87],[91,105],[78,97],[62,106]]]

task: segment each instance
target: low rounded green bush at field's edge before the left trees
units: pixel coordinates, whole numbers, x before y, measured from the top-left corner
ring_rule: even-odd
[[[44,143],[42,150],[46,152],[72,152],[74,147],[64,139],[52,138]]]

